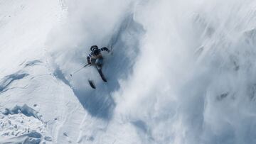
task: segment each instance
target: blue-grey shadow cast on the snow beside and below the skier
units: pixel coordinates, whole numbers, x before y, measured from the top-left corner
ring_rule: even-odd
[[[72,87],[75,96],[78,97],[82,106],[92,116],[105,120],[109,120],[112,117],[116,104],[111,92],[115,92],[120,88],[118,79],[125,80],[132,73],[134,59],[139,54],[139,39],[143,34],[143,27],[134,21],[132,14],[124,18],[121,26],[112,37],[112,40],[110,40],[114,53],[109,57],[105,57],[105,65],[102,68],[102,72],[108,82],[98,83],[97,90],[75,89]],[[71,84],[65,79],[60,70],[55,71],[55,77],[71,87]],[[88,87],[90,87],[89,84]]]

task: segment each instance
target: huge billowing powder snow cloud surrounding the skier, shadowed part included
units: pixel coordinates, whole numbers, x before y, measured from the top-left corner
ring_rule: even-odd
[[[255,143],[254,6],[66,1],[67,18],[52,32],[49,52],[92,116],[132,124],[142,143]],[[91,45],[111,41],[108,84],[92,67],[69,77]],[[97,92],[88,78],[97,79]]]

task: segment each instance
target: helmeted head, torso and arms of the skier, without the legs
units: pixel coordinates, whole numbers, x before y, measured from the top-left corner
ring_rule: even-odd
[[[110,50],[106,47],[104,48],[98,48],[97,45],[92,45],[90,48],[91,52],[87,56],[87,62],[89,65],[97,65],[98,67],[102,67],[103,65],[103,57],[102,57],[102,51],[106,50],[107,52],[110,52]]]

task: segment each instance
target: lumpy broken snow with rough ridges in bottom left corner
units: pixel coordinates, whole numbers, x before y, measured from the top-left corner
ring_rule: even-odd
[[[1,114],[0,143],[43,143],[51,142],[47,133],[46,123],[27,105],[6,109]],[[46,135],[46,136],[43,136]],[[44,141],[42,140],[44,138]]]

